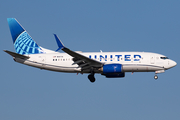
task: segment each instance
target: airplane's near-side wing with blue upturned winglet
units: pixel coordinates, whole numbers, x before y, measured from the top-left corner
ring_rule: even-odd
[[[61,42],[61,40],[57,37],[56,34],[54,34],[54,37],[55,37],[56,42],[57,42],[58,47],[59,47],[56,51],[61,49],[64,52],[66,52],[67,54],[69,54],[70,56],[72,56],[73,57],[73,61],[74,61],[74,63],[72,65],[78,64],[79,67],[81,67],[81,70],[88,70],[88,69],[90,70],[92,67],[93,67],[93,69],[94,68],[98,69],[98,68],[103,66],[102,62],[90,59],[90,58],[88,58],[88,57],[86,57],[86,56],[84,56],[82,54],[79,54],[77,52],[74,52],[74,51],[66,48],[63,45],[63,43]]]

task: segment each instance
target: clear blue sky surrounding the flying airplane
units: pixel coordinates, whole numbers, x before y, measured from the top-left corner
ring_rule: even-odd
[[[179,120],[179,0],[6,0],[0,4],[2,120]],[[7,18],[16,18],[33,39],[56,50],[56,33],[75,51],[147,51],[178,65],[154,73],[107,79],[58,73],[13,61]]]

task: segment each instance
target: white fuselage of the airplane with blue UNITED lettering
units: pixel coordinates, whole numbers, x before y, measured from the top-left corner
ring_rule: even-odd
[[[164,55],[150,52],[78,52],[103,64],[122,64],[122,72],[156,72],[161,73],[176,65],[176,62]],[[15,61],[57,72],[89,73],[73,64],[73,58],[66,53],[30,54],[29,59],[14,58]],[[95,71],[101,73],[101,71]]]

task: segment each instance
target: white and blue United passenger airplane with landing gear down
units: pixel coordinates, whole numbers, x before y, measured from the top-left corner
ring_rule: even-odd
[[[28,66],[67,73],[88,73],[95,82],[94,74],[106,78],[122,78],[125,72],[163,73],[177,65],[168,57],[152,52],[81,52],[65,47],[56,34],[56,51],[39,46],[15,18],[7,18],[16,52],[4,50],[15,62]],[[63,53],[58,52],[64,51]]]

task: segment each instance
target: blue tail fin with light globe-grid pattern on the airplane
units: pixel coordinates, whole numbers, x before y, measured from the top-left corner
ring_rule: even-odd
[[[16,53],[21,55],[44,53],[15,18],[7,18],[7,21]]]

